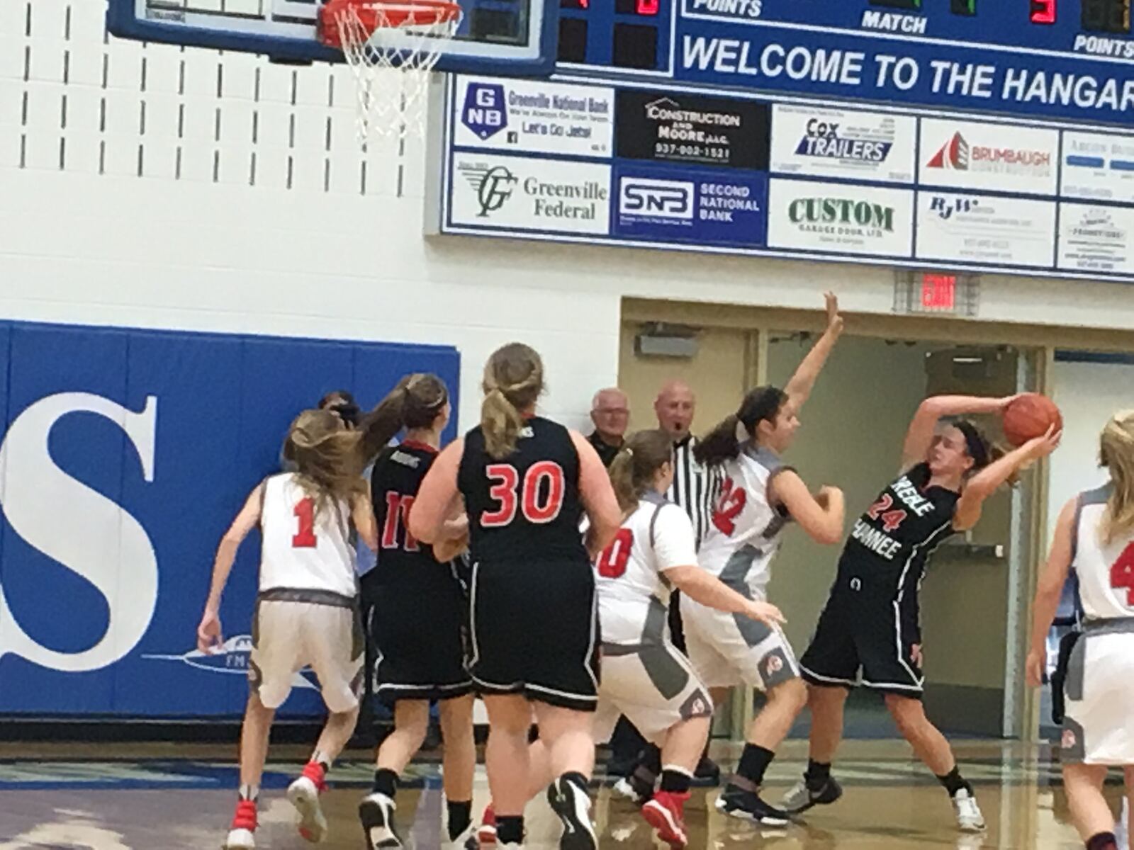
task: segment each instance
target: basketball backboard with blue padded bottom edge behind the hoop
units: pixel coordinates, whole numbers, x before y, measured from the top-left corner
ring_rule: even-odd
[[[120,39],[263,53],[282,61],[341,61],[315,33],[322,0],[109,0]],[[558,0],[462,0],[464,17],[437,68],[550,76]]]

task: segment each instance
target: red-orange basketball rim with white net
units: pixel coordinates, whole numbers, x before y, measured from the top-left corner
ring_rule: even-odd
[[[341,50],[358,95],[358,141],[421,137],[430,71],[460,26],[449,0],[329,0],[319,37]]]

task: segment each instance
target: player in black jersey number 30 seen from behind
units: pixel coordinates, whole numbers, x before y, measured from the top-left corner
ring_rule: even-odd
[[[534,707],[558,777],[548,798],[564,822],[560,847],[594,850],[587,780],[599,639],[591,554],[613,538],[621,512],[586,439],[535,416],[543,365],[534,350],[514,342],[496,351],[483,386],[481,425],[433,464],[409,530],[423,542],[438,539],[464,496],[473,558],[471,672],[489,712],[485,762],[499,841],[523,841]],[[586,545],[578,530],[584,511]]]

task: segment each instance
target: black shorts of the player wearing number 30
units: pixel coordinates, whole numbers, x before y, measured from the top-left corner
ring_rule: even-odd
[[[469,670],[483,695],[595,709],[599,620],[590,563],[477,562],[471,595]]]

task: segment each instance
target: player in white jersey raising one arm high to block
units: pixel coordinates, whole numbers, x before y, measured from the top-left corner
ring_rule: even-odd
[[[697,460],[721,470],[722,484],[712,525],[701,543],[702,569],[752,600],[764,600],[770,566],[789,520],[815,542],[838,543],[843,534],[843,493],[823,487],[818,495],[779,459],[799,426],[798,414],[843,331],[838,301],[827,296],[827,330],[784,390],[748,392],[695,450]],[[736,774],[717,801],[727,814],[763,824],[788,822],[786,813],[760,797],[764,772],[796,715],[807,703],[799,665],[784,632],[682,600],[685,640],[694,669],[720,704],[727,689],[747,685],[768,702],[748,726]]]

